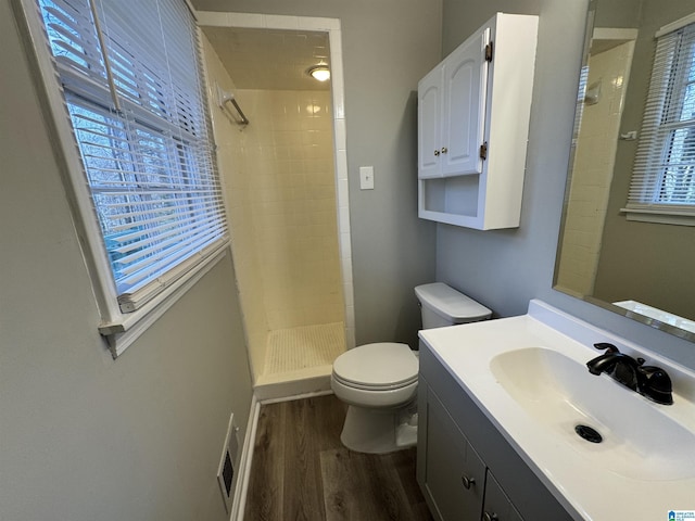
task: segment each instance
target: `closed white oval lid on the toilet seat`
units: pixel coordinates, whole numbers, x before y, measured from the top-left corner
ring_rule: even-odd
[[[407,344],[365,344],[333,361],[333,373],[342,381],[369,387],[393,387],[417,380],[418,359]]]

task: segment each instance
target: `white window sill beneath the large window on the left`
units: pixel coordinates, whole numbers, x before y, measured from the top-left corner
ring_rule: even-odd
[[[217,252],[198,264],[188,274],[178,279],[169,288],[160,293],[142,308],[123,314],[121,319],[102,322],[99,332],[109,342],[111,356],[116,359],[138,338],[144,333],[162,315],[164,315],[181,296],[222,260],[228,252],[225,243]]]

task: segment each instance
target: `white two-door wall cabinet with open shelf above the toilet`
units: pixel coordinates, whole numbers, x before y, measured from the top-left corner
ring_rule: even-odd
[[[536,33],[497,13],[419,81],[419,217],[519,226]]]

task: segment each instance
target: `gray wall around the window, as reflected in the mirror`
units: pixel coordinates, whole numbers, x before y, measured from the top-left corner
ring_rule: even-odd
[[[601,13],[601,3],[598,5]],[[644,0],[628,84],[621,132],[642,128],[655,49],[655,33],[693,12],[693,2]],[[695,229],[626,220],[624,207],[639,141],[618,141],[616,168],[594,296],[607,302],[634,298],[688,318],[695,318]],[[640,262],[635,263],[634,259]]]

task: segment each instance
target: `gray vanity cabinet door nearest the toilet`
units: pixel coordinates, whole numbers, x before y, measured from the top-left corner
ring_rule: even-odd
[[[485,466],[434,393],[427,404],[425,487],[440,521],[479,521]]]

